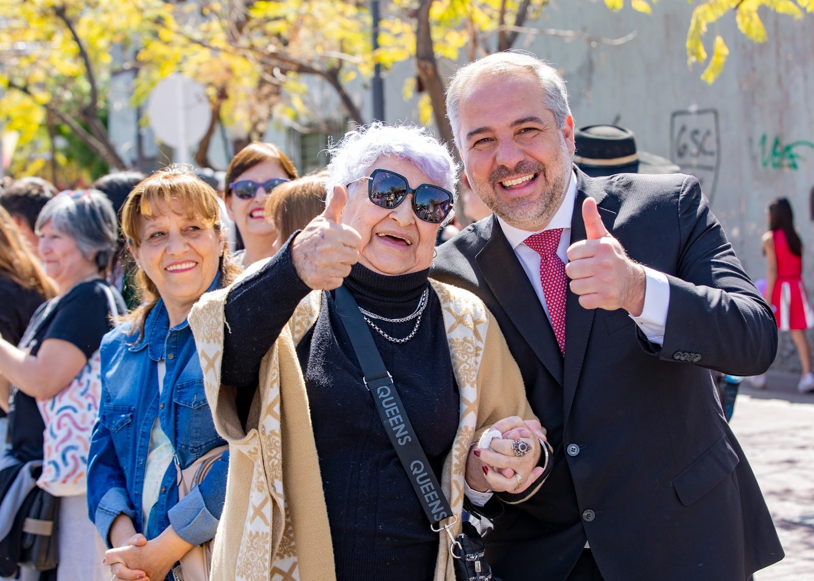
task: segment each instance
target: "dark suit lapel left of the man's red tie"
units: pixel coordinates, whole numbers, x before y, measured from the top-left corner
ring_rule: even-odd
[[[562,356],[540,299],[529,285],[526,271],[506,240],[495,216],[492,216],[488,228],[491,232],[484,231],[488,242],[475,256],[480,271],[495,295],[497,304],[523,335],[523,339],[526,339],[529,347],[532,347],[549,374],[562,385]]]

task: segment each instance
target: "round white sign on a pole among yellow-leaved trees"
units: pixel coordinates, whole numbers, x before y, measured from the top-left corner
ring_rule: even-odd
[[[204,85],[173,73],[159,81],[147,102],[150,127],[160,140],[175,150],[175,162],[188,161],[189,147],[206,134],[212,107]]]

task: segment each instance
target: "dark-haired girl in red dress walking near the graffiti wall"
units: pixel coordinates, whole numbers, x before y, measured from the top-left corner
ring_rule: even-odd
[[[794,212],[786,198],[768,204],[768,228],[763,248],[768,270],[765,297],[772,305],[777,329],[790,331],[800,356],[803,377],[797,384],[801,392],[814,391],[811,355],[805,330],[814,327],[814,312],[803,286],[803,242],[794,229]]]

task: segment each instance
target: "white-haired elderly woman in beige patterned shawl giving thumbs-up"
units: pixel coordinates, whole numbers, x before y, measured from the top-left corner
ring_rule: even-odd
[[[443,527],[461,529],[476,434],[494,424],[508,439],[492,440],[506,459],[492,490],[531,493],[539,433],[520,419],[533,416],[492,315],[428,278],[455,202],[449,151],[425,129],[376,123],[330,154],[325,212],[190,314],[231,454],[212,579],[454,579]],[[356,300],[393,384],[365,388],[340,291]],[[398,413],[389,397],[386,412],[374,403],[391,390]],[[413,474],[396,452],[405,417],[429,464],[413,462]],[[511,439],[531,453],[516,456]],[[422,503],[441,494],[452,514],[431,529]]]

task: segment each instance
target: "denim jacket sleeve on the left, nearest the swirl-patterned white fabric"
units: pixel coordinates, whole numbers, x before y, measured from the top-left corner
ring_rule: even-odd
[[[94,522],[99,535],[105,544],[112,547],[109,535],[114,519],[125,514],[133,522],[136,511],[130,502],[125,483],[125,474],[121,470],[119,458],[113,447],[110,430],[107,429],[104,405],[106,390],[102,388],[102,400],[99,417],[94,424],[90,437],[88,452],[88,510],[90,520]]]

